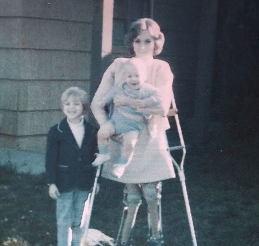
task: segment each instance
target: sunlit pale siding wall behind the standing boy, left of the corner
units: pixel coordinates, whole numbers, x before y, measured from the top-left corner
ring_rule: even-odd
[[[89,92],[93,0],[1,0],[0,147],[44,152],[61,93]]]

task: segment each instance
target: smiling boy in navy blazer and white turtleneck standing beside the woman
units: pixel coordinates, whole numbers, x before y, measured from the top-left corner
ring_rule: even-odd
[[[65,118],[52,126],[47,137],[46,178],[49,195],[56,200],[57,245],[79,246],[84,203],[94,184],[98,152],[95,129],[84,119],[89,112],[87,94],[70,87],[61,96]]]

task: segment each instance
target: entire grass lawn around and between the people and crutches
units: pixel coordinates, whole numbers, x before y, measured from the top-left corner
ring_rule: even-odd
[[[209,147],[187,151],[186,186],[198,245],[258,245],[257,163],[257,151],[252,148]],[[101,181],[91,228],[116,237],[122,213],[122,188],[122,184]],[[191,246],[178,178],[163,182],[162,214],[166,246]],[[48,196],[44,175],[17,174],[1,167],[0,244],[50,246],[56,244],[55,234],[55,201]],[[134,229],[135,245],[145,245],[146,234],[144,204]]]

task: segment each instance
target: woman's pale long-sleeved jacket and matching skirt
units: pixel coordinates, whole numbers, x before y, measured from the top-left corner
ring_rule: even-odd
[[[113,85],[125,80],[123,66],[129,58],[117,58],[103,74],[103,79],[94,95],[91,109],[100,125],[106,122],[107,115],[103,108],[103,97],[113,88]],[[170,154],[167,151],[168,143],[165,130],[170,128],[166,117],[172,97],[173,74],[167,62],[158,59],[145,61],[147,66],[147,83],[156,86],[160,93],[161,104],[146,108],[145,113],[152,114],[147,128],[141,133],[131,162],[121,178],[111,174],[112,165],[120,156],[120,144],[109,141],[111,160],[103,166],[102,176],[122,183],[149,183],[175,177]],[[156,114],[155,114],[156,112]],[[148,132],[156,132],[151,137]]]

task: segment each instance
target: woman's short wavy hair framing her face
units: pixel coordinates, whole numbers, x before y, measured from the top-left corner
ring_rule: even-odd
[[[150,32],[150,35],[155,42],[153,55],[159,55],[163,49],[165,37],[164,34],[160,31],[159,25],[154,20],[149,18],[141,18],[135,22],[132,22],[124,40],[125,45],[128,47],[129,53],[131,55],[135,55],[133,41],[141,33],[141,31],[145,29]]]

